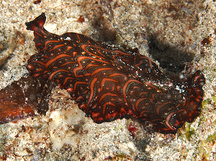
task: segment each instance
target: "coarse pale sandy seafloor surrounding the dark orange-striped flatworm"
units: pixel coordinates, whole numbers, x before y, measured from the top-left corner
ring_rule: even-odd
[[[55,89],[49,102],[52,110],[46,116],[0,125],[0,160],[216,160],[214,0],[0,2],[1,88],[28,73],[27,60],[37,51],[33,32],[26,30],[25,22],[42,12],[50,32],[82,33],[95,40],[138,48],[150,58],[148,42],[152,36],[156,45],[161,42],[190,53],[185,57],[173,52],[171,57],[190,59],[192,55],[188,63],[191,72],[199,69],[206,78],[202,113],[176,135],[149,132],[134,123],[139,130],[132,136],[127,128],[131,120],[125,119],[96,124],[85,117],[65,90]],[[80,15],[84,16],[83,23],[77,21]]]

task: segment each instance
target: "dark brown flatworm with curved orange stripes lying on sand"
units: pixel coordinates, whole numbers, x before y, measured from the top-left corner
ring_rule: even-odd
[[[205,84],[200,71],[172,80],[148,57],[78,33],[49,33],[45,20],[42,13],[26,23],[38,50],[27,68],[34,78],[66,89],[96,123],[134,118],[151,122],[158,132],[176,133],[200,114]]]

